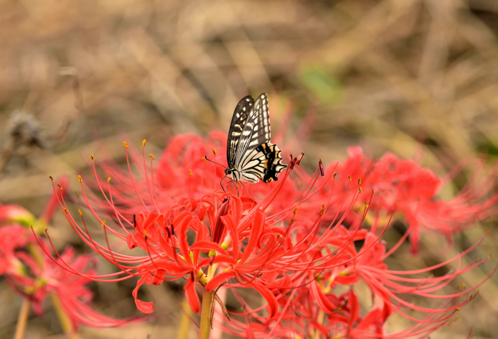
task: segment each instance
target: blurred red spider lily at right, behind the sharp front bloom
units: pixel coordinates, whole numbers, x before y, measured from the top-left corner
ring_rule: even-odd
[[[359,147],[351,147],[348,153],[344,162],[329,165],[327,171],[334,170],[340,182],[344,182],[346,177],[355,180],[361,178],[361,186],[365,191],[375,191],[376,198],[371,206],[373,211],[385,211],[387,214],[394,212],[402,216],[408,225],[404,238],[409,235],[412,253],[418,251],[420,231],[444,235],[451,242],[455,232],[498,214],[498,194],[492,193],[493,185],[490,184],[494,182],[490,180],[493,171],[479,185],[469,184],[455,198],[440,200],[437,194],[443,178],[429,169],[421,168],[414,161],[399,159],[391,153],[378,160],[370,159],[363,155]],[[338,193],[346,192],[346,189],[344,185],[336,186]],[[486,199],[490,193],[491,198]],[[326,190],[309,208],[314,209],[321,204],[323,196],[328,196]],[[340,196],[337,194],[335,197],[340,199]],[[338,206],[334,201],[331,203]],[[329,214],[334,213],[334,209],[329,210]]]

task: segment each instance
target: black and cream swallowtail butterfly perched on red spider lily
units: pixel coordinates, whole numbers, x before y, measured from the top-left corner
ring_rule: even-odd
[[[237,182],[269,183],[286,166],[280,150],[270,142],[268,98],[261,93],[256,100],[243,98],[235,108],[227,142],[226,176]],[[245,186],[245,185],[244,185]]]

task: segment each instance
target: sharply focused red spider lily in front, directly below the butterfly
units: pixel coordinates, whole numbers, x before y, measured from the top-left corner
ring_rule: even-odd
[[[291,159],[291,167],[297,162],[298,159]],[[152,303],[145,303],[136,298],[138,288],[143,283],[158,285],[164,280],[186,279],[187,299],[194,312],[199,312],[200,302],[195,291],[196,283],[212,291],[234,278],[236,282],[228,286],[251,287],[258,291],[266,299],[268,313],[272,317],[277,310],[275,289],[280,288],[283,281],[287,281],[288,286],[285,286],[285,289],[292,287],[292,281],[289,281],[289,277],[282,272],[293,270],[303,274],[316,266],[318,262],[321,266],[340,265],[337,263],[338,257],[332,255],[320,261],[312,260],[307,264],[293,265],[296,257],[303,251],[310,250],[310,238],[319,241],[320,237],[317,238],[316,233],[325,205],[322,206],[322,211],[316,212],[313,222],[310,223],[307,218],[304,219],[306,223],[295,222],[297,233],[299,233],[301,224],[310,224],[312,227],[310,232],[300,233],[300,240],[293,243],[290,228],[285,227],[282,221],[292,215],[299,204],[313,194],[310,191],[318,180],[318,174],[315,172],[310,183],[300,194],[291,197],[286,208],[271,214],[269,212],[275,211],[275,208],[271,208],[274,201],[279,199],[289,201],[289,197],[281,193],[289,173],[290,171],[287,171],[257,204],[251,202],[248,197],[239,198],[221,190],[212,191],[200,198],[180,198],[177,202],[170,204],[165,211],[159,208],[155,199],[152,199],[152,206],[156,206],[157,210],[149,211],[147,205],[144,204],[147,211],[138,213],[133,217],[133,221],[124,218],[123,213],[116,207],[108,181],[108,194],[106,195],[104,191],[101,193],[106,195],[106,201],[124,233],[109,227],[88,204],[94,217],[104,227],[106,245],[96,243],[90,236],[84,219],[82,219],[83,226],[80,226],[68,213],[64,200],[61,199],[60,202],[68,221],[82,239],[121,269],[120,272],[106,276],[85,276],[98,281],[121,274],[126,276],[112,280],[139,276],[133,296],[140,311],[144,313],[153,311]],[[82,182],[81,177],[80,182]],[[327,179],[323,181],[322,186],[326,182]],[[99,181],[97,183],[100,186]],[[88,203],[83,185],[82,189],[84,199]],[[149,196],[154,197],[153,194]],[[278,205],[281,204],[280,202]],[[351,202],[349,204],[351,205]],[[344,217],[334,222],[340,223],[343,219]],[[204,224],[205,220],[211,229]],[[128,231],[126,224],[128,227],[132,226],[134,230]],[[358,226],[360,224],[361,221]],[[331,224],[329,230],[324,232],[321,238],[332,238],[331,234],[334,229],[335,227]],[[147,255],[133,257],[113,251],[107,240],[107,232],[112,232],[126,241],[130,249],[140,247]],[[195,234],[194,241],[188,241],[187,232]],[[351,243],[352,240],[348,242]],[[316,247],[316,245],[313,246]]]

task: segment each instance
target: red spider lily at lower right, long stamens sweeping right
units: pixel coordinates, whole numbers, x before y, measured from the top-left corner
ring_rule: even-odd
[[[348,232],[350,231],[343,229],[340,233]],[[361,235],[357,233],[357,236]],[[358,253],[361,255],[357,254],[354,246],[343,252],[346,256],[354,257],[353,261],[333,269],[310,272],[307,284],[302,284],[305,280],[303,279],[300,281],[300,286],[283,295],[278,300],[281,310],[278,321],[269,322],[258,316],[255,310],[248,309],[246,312],[238,313],[245,317],[245,322],[232,320],[230,324],[225,324],[225,331],[247,338],[424,338],[441,326],[452,322],[454,314],[460,310],[460,307],[470,302],[475,294],[471,294],[470,298],[463,301],[459,301],[460,297],[468,296],[475,291],[496,272],[498,267],[497,265],[486,279],[472,288],[462,288],[455,293],[441,295],[437,292],[457,275],[473,269],[490,258],[476,260],[463,268],[459,265],[454,272],[441,277],[423,278],[420,275],[459,260],[473,250],[482,239],[457,257],[438,265],[413,271],[392,271],[382,262],[386,256],[385,246],[379,243],[372,233],[364,233],[364,238],[365,243]],[[322,250],[328,247],[326,243],[322,244]],[[417,278],[410,278],[409,275],[416,275]],[[359,279],[363,279],[370,287],[373,305],[376,305],[363,318],[359,316],[361,305],[352,290],[341,296],[334,293],[338,285],[353,285]],[[429,308],[405,300],[413,298],[421,301],[440,300],[442,303],[439,307]],[[414,325],[403,331],[386,334],[383,325],[394,312],[409,319]],[[420,317],[416,317],[415,314]]]

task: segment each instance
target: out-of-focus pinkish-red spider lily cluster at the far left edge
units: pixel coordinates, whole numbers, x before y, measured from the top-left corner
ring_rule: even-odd
[[[88,306],[93,298],[86,287],[90,280],[60,267],[64,261],[79,272],[94,275],[96,262],[91,255],[76,255],[67,247],[61,259],[54,262],[39,251],[39,245],[46,252],[51,249],[28,227],[33,225],[34,230],[45,226],[54,211],[54,201],[57,203],[55,197],[47,205],[44,219],[36,219],[20,206],[0,205],[0,275],[13,291],[31,302],[37,315],[43,313],[44,300],[55,294],[74,329],[80,324],[112,327],[129,323],[130,319],[116,320],[94,311]]]

